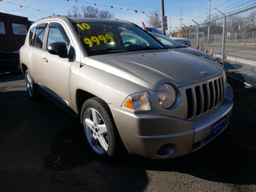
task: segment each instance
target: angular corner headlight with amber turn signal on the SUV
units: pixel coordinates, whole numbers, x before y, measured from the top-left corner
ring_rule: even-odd
[[[124,106],[131,110],[151,110],[150,100],[145,93],[131,95]]]

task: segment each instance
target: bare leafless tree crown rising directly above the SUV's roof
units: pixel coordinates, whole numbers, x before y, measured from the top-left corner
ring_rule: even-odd
[[[94,6],[83,6],[82,11],[77,10],[77,7],[73,6],[67,15],[74,18],[114,18],[114,14],[111,14],[107,10],[98,10]]]

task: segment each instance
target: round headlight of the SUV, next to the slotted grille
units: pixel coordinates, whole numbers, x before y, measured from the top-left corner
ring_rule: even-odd
[[[176,91],[174,89],[174,86],[171,86],[168,83],[160,86],[158,90],[158,101],[160,106],[162,106],[163,108],[168,108],[169,106],[172,106],[176,101]]]

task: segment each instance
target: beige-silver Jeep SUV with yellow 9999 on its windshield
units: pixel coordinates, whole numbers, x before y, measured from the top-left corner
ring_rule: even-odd
[[[38,92],[81,119],[100,158],[173,158],[228,125],[233,91],[216,62],[166,50],[130,22],[42,18],[20,50],[30,98]],[[121,143],[122,142],[122,143]]]

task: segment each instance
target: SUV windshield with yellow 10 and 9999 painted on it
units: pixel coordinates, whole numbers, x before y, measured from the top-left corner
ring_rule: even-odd
[[[164,49],[144,30],[127,22],[85,18],[73,24],[89,56]]]

